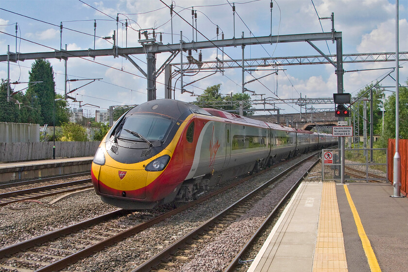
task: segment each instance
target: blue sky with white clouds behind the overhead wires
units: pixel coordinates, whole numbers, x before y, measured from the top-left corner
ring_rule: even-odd
[[[175,13],[170,20],[170,9],[164,4],[174,6],[177,12],[190,24],[191,9],[197,13],[197,30]],[[138,30],[155,29],[162,33],[163,44],[179,43],[180,32],[185,42],[216,40],[216,26],[225,39],[245,37],[308,34],[330,32],[330,17],[334,13],[334,27],[342,33],[343,54],[395,52],[396,6],[395,0],[240,0],[235,1],[233,14],[231,0],[1,0],[0,3],[0,54],[10,51],[20,53],[49,52],[69,50],[109,49],[112,40],[102,37],[112,36],[118,29],[119,47],[141,47],[138,43]],[[116,17],[119,16],[117,26]],[[128,21],[126,32],[125,22]],[[94,22],[96,37],[94,39]],[[408,51],[408,0],[399,0],[399,51]],[[16,41],[17,23],[17,41]],[[60,24],[63,31],[60,32]],[[322,30],[323,29],[323,30]],[[21,39],[20,39],[21,38]],[[157,37],[158,39],[158,37]],[[173,39],[173,42],[172,42]],[[336,43],[316,41],[314,44],[325,54],[336,53]],[[203,49],[204,61],[218,58],[242,58],[240,46],[221,49]],[[319,53],[306,42],[252,45],[245,47],[245,58],[314,56]],[[223,56],[222,56],[223,55]],[[170,53],[156,55],[158,69],[170,56]],[[198,52],[192,56],[198,59]],[[136,63],[146,71],[146,55],[133,55]],[[55,72],[56,92],[64,94],[64,62],[49,59]],[[186,62],[186,53],[184,60]],[[26,60],[10,63],[10,81],[28,82],[29,71],[34,61]],[[180,63],[178,55],[172,63]],[[400,61],[399,82],[407,85],[408,62]],[[375,83],[395,67],[395,62],[354,63],[343,65],[344,92],[356,96],[366,85]],[[381,69],[379,69],[381,68]],[[386,68],[386,69],[384,69]],[[93,58],[69,58],[68,79],[101,79],[88,85],[89,80],[69,82],[68,91],[80,87],[70,95],[77,101],[89,117],[94,116],[97,106],[107,109],[111,105],[132,105],[147,101],[147,80],[129,61],[113,56]],[[254,69],[256,69],[254,67]],[[264,69],[264,68],[259,68]],[[272,73],[271,70],[245,72],[245,82]],[[330,64],[281,66],[278,74],[265,76],[258,81],[246,84],[254,91],[253,100],[261,98],[297,99],[332,98],[337,93],[337,76]],[[282,70],[283,69],[283,70]],[[367,70],[371,69],[371,70]],[[359,71],[354,71],[359,70]],[[348,72],[350,71],[350,72]],[[239,93],[242,90],[241,69],[225,69],[206,77],[208,72],[185,76],[184,84],[196,81],[185,87],[188,92],[181,93],[178,76],[173,79],[174,97],[177,100],[192,102],[208,86],[221,84],[221,93]],[[0,63],[0,78],[7,79],[7,62]],[[395,71],[381,84],[387,86],[387,95],[395,91]],[[201,80],[199,80],[201,79]],[[176,83],[175,83],[176,82]],[[27,87],[27,84],[12,85],[14,90]],[[164,73],[157,78],[157,99],[164,98]],[[23,91],[24,92],[24,91]],[[194,93],[192,95],[191,93]],[[248,93],[251,94],[251,93]],[[260,96],[262,94],[262,96]],[[79,108],[79,102],[68,100],[71,108]],[[87,104],[87,105],[84,105]],[[299,113],[300,108],[292,104],[276,104],[283,113]],[[263,108],[262,105],[255,106]],[[334,105],[314,105],[315,108],[334,109]],[[272,108],[267,105],[266,108]],[[304,111],[304,109],[303,109]],[[274,112],[271,112],[272,114]],[[268,114],[258,111],[256,115]]]

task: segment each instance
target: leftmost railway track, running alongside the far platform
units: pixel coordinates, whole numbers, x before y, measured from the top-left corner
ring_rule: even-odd
[[[0,206],[92,187],[91,179],[71,181],[0,194]]]

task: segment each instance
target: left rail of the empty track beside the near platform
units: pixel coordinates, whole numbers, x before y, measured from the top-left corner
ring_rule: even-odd
[[[317,152],[319,153],[319,152]],[[164,259],[168,258],[171,254],[174,254],[179,250],[180,247],[184,246],[187,244],[190,240],[192,240],[194,237],[196,237],[198,234],[204,232],[209,226],[213,225],[216,221],[219,221],[225,214],[229,213],[233,208],[235,208],[238,204],[248,200],[251,196],[255,195],[258,191],[262,190],[263,188],[267,187],[272,183],[273,181],[279,179],[280,177],[284,176],[287,174],[290,170],[295,169],[298,167],[300,164],[304,163],[306,160],[310,159],[317,153],[308,156],[307,158],[299,161],[295,165],[289,167],[287,170],[282,171],[281,173],[277,174],[274,176],[272,179],[261,185],[260,187],[256,188],[246,196],[242,197],[240,200],[235,202],[234,204],[230,205],[229,207],[225,208],[223,211],[212,217],[211,219],[205,221],[202,225],[200,225],[198,228],[194,229],[190,233],[186,234],[184,237],[180,238],[179,240],[175,241],[172,243],[170,246],[162,250],[160,253],[154,255],[152,258],[147,260],[146,262],[142,263],[138,267],[136,267],[134,270],[131,272],[149,272],[151,271],[154,267],[159,265]]]

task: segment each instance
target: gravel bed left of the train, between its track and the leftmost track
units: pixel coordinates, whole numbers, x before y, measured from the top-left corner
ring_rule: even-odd
[[[59,195],[0,207],[0,247],[118,209],[103,203],[93,190],[48,204],[57,197]]]

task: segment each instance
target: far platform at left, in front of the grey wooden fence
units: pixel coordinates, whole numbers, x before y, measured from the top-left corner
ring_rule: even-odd
[[[92,160],[93,156],[0,163],[0,183],[88,172]]]

